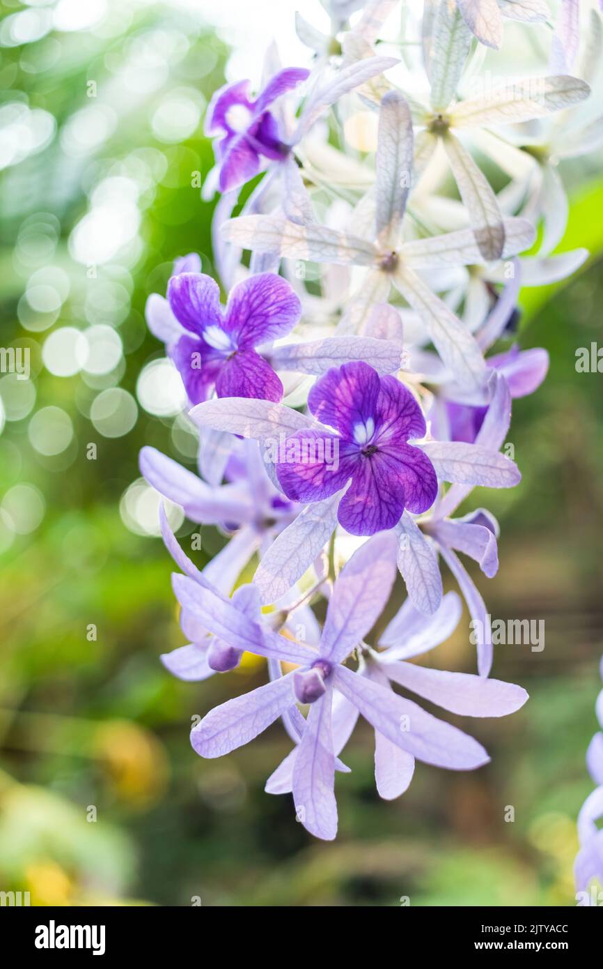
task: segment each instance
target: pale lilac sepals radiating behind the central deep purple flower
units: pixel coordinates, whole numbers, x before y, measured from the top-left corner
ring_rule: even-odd
[[[355,364],[358,365],[363,364]],[[493,395],[489,416],[484,421],[475,444],[425,441],[408,447],[411,452],[420,449],[427,455],[438,481],[453,485],[441,499],[441,516],[451,514],[474,485],[513,487],[521,481],[515,463],[497,451],[509,425],[508,388],[496,373],[492,374],[491,382],[496,384],[499,392]],[[389,379],[384,383],[391,386]],[[318,474],[324,474],[325,477],[340,474],[341,467],[336,467],[335,461],[328,464],[334,470],[326,471],[319,461],[313,461],[313,457],[320,456],[322,451],[326,459],[325,444],[328,443],[331,450],[335,442],[338,447],[341,446],[341,439],[335,437],[325,424],[308,415],[299,414],[283,404],[272,404],[267,400],[246,400],[242,397],[208,400],[198,404],[191,412],[191,417],[203,429],[210,427],[215,431],[229,431],[255,438],[268,449],[265,460],[270,460],[272,443],[282,438],[285,445],[285,463],[287,459],[297,462],[299,455],[307,457],[308,464],[314,463]],[[301,440],[295,439],[299,431],[304,431],[305,434]],[[308,434],[308,431],[311,433]],[[357,441],[354,443],[358,449]],[[325,463],[328,462],[325,460]],[[273,603],[279,600],[312,566],[337,526],[338,509],[346,488],[347,479],[343,486],[340,485],[339,490],[330,492],[330,497],[319,501],[308,499],[306,508],[262,555],[254,578],[260,589],[262,602]],[[385,496],[385,500],[389,500],[388,496]],[[449,509],[448,505],[455,501]],[[439,503],[437,507],[440,507]],[[374,515],[373,508],[370,514]],[[408,595],[418,609],[431,613],[437,610],[441,600],[437,554],[406,509],[394,528],[400,539],[398,566],[407,583]]]

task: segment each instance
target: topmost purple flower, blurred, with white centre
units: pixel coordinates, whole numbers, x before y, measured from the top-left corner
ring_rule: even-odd
[[[268,108],[286,91],[309,77],[304,68],[287,68],[271,78],[256,99],[249,80],[226,84],[214,94],[205,120],[205,134],[216,139],[214,150],[220,168],[221,192],[229,192],[261,170],[261,159],[283,161],[289,146],[282,140],[279,123]]]

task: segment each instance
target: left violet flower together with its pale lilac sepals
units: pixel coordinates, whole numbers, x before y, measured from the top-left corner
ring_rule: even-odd
[[[194,258],[185,257],[175,267]],[[149,329],[166,343],[193,404],[214,390],[219,397],[281,400],[283,384],[275,369],[321,375],[329,366],[358,358],[370,360],[379,373],[399,369],[399,340],[327,336],[272,346],[295,327],[300,315],[293,289],[273,272],[252,275],[234,286],[225,310],[217,283],[188,271],[171,277],[167,299],[155,293],[146,304]]]

